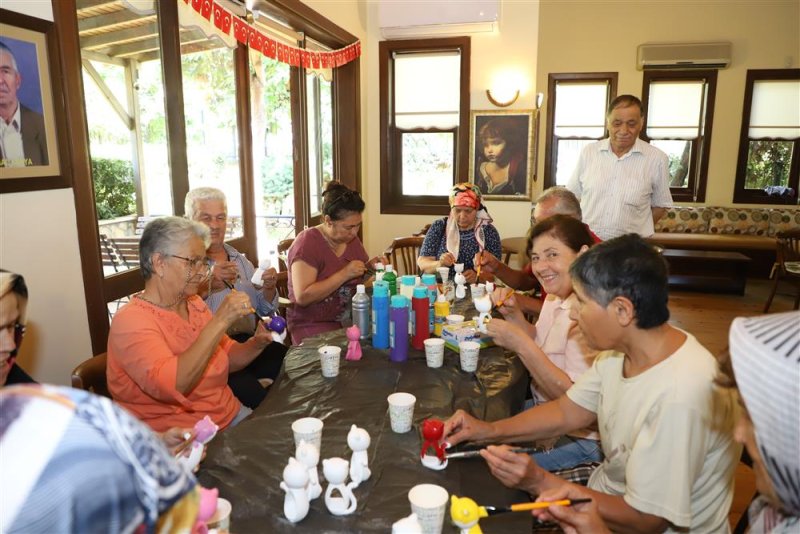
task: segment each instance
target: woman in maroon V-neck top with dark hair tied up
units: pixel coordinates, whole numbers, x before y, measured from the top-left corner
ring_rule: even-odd
[[[289,249],[287,311],[292,343],[337,330],[345,319],[355,286],[368,268],[386,258],[369,259],[358,239],[364,201],[358,191],[331,182],[322,193],[322,222],[300,232]]]

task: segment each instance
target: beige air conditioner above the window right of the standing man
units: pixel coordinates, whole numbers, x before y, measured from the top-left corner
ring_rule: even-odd
[[[731,64],[731,43],[645,43],[636,51],[636,68],[724,69]]]

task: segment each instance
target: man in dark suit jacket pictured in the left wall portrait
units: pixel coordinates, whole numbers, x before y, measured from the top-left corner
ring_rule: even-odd
[[[21,85],[17,59],[0,41],[0,167],[49,164],[44,118],[19,101]]]

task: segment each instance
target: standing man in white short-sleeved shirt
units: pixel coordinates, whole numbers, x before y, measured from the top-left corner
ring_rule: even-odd
[[[606,114],[608,139],[581,151],[567,184],[581,201],[583,222],[603,240],[629,233],[651,236],[672,207],[669,158],[639,139],[643,125],[641,100],[615,98]]]

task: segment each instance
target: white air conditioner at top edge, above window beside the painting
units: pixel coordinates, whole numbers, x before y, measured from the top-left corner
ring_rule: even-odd
[[[501,0],[380,0],[378,20],[386,39],[447,37],[499,30]]]

